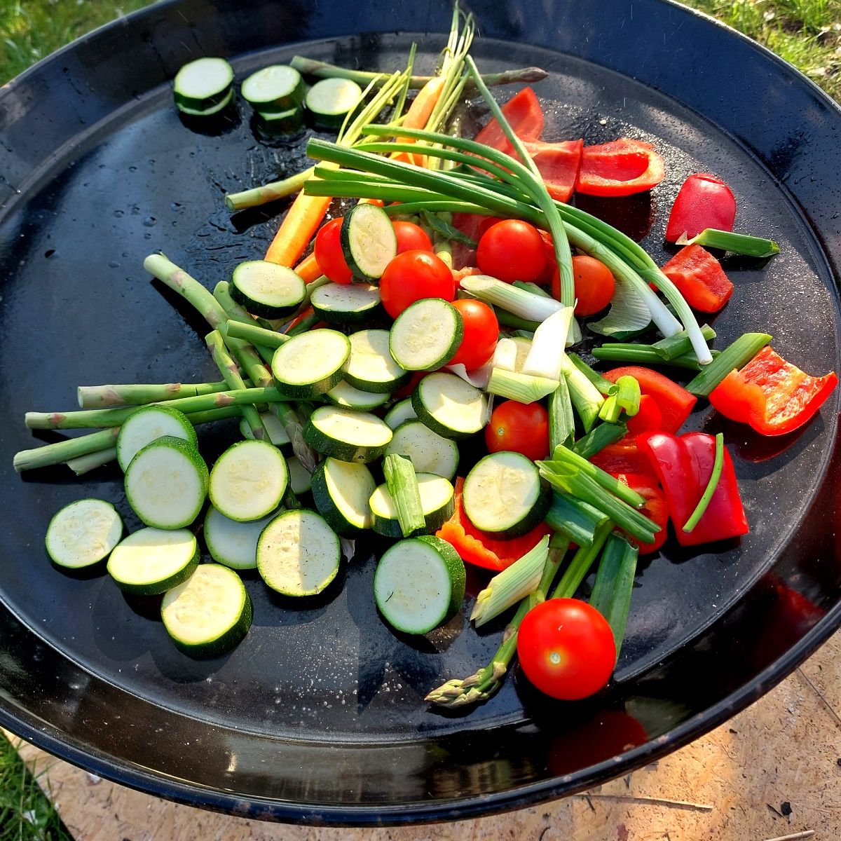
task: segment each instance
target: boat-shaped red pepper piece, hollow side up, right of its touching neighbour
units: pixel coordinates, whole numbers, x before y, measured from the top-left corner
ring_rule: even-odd
[[[663,158],[650,143],[620,137],[584,146],[575,189],[589,196],[630,196],[663,181]]]

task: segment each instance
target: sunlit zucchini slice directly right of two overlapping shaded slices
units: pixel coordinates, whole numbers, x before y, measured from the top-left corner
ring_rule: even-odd
[[[289,470],[278,447],[267,441],[240,441],[216,459],[209,496],[226,517],[249,522],[271,514],[288,484]]]

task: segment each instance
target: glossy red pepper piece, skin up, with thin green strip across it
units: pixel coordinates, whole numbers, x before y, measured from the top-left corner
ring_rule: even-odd
[[[668,432],[648,432],[637,436],[637,445],[648,455],[663,485],[669,517],[681,546],[697,546],[748,533],[748,518],[726,448],[722,475],[710,504],[691,532],[683,530],[710,481],[716,458],[715,436],[706,432],[687,432],[680,437]]]

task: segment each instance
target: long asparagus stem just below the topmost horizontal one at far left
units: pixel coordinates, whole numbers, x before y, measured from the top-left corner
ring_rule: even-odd
[[[190,412],[220,409],[222,406],[276,403],[286,399],[278,389],[253,388],[182,397],[167,400],[166,405],[188,415]],[[138,409],[140,406],[126,406],[123,409],[85,409],[77,412],[27,412],[25,422],[29,429],[105,429],[119,426]]]

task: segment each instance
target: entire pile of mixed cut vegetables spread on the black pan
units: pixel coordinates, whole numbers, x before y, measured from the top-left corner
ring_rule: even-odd
[[[515,657],[547,695],[589,696],[615,667],[637,557],[663,546],[669,523],[683,546],[748,532],[722,435],[681,434],[697,401],[785,435],[837,383],[786,362],[766,333],[711,349],[715,331],[696,313],[722,309],[734,288],[707,249],[777,251],[733,233],[727,184],[686,179],[666,232],[683,247],[659,267],[569,204],[656,187],[653,145],[542,141],[532,87],[500,108],[489,84],[545,74],[481,76],[473,35],[457,7],[432,77],[412,75],[413,50],[390,75],[296,57],[246,78],[241,96],[272,130],[309,120],[338,136],[309,139],[315,167],[227,198],[238,210],[298,193],[265,259],[231,267],[230,282],[211,292],[161,254],[145,260],[207,320],[220,381],[82,387],[81,410],[26,417],[100,431],[19,452],[16,469],[81,474],[116,459],[145,524],[123,537],[113,505],[77,500],[50,523],[50,558],[106,563],[124,592],[160,595],[190,656],[218,656],[248,632],[240,573],[306,598],[373,532],[390,542],[372,610],[396,631],[433,632],[457,615],[465,563],[493,573],[475,625],[510,614],[492,662],[427,700],[487,699]],[[307,88],[312,75],[322,78]],[[177,108],[221,114],[233,83],[226,61],[194,61],[176,77]],[[473,94],[490,119],[468,140]],[[356,203],[325,220],[337,198]],[[208,465],[195,427],[227,417],[241,418],[242,440]],[[213,563],[199,563],[198,536]]]

